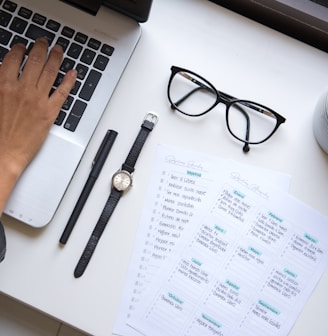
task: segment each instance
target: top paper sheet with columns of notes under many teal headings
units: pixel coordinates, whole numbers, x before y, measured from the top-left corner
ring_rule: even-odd
[[[214,166],[196,162],[190,173],[169,174],[194,197],[205,191],[200,211],[189,219],[186,211],[190,229],[148,283],[129,325],[146,336],[287,335],[327,268],[327,217],[258,176],[250,184],[231,165],[213,175]],[[179,198],[159,201],[174,218]]]

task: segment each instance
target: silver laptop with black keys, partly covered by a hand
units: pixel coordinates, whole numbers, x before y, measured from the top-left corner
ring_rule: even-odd
[[[152,0],[0,0],[0,63],[10,46],[45,36],[65,50],[59,85],[77,82],[4,212],[33,227],[53,218],[141,35]]]

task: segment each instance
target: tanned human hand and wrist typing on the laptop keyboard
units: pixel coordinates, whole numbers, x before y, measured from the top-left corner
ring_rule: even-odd
[[[61,47],[53,47],[47,57],[47,40],[36,40],[19,76],[25,52],[23,45],[14,45],[0,66],[0,214],[76,80],[76,71],[69,71],[49,96],[63,58]]]

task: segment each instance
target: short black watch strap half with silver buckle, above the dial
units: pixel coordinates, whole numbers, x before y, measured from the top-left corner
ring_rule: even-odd
[[[122,170],[128,171],[130,174],[134,172],[134,166],[138,160],[141,153],[142,147],[145,144],[149,133],[153,130],[156,125],[158,117],[155,113],[147,113],[145,119],[142,122],[141,129],[135,139],[130,152],[122,165]]]

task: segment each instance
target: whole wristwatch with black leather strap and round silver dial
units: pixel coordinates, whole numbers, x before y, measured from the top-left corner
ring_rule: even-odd
[[[158,121],[158,116],[149,112],[146,114],[141,129],[138,133],[136,140],[134,141],[130,152],[122,164],[122,167],[113,175],[111,192],[104,206],[104,209],[99,217],[99,220],[89,238],[89,241],[81,255],[81,258],[74,270],[74,277],[79,278],[85,271],[89,264],[89,261],[95,251],[97,243],[104,232],[104,229],[114,212],[118,201],[124,192],[126,192],[132,186],[132,175],[137,159],[141,153],[142,147],[145,144],[149,133],[153,130]]]

